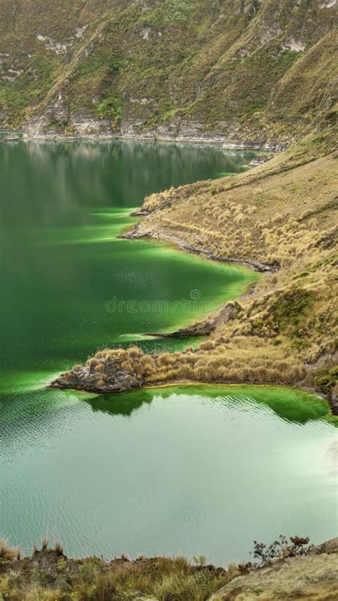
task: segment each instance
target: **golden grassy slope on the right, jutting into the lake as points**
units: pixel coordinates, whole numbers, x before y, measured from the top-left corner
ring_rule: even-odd
[[[121,367],[136,374],[139,385],[191,380],[332,391],[338,371],[334,134],[329,128],[312,135],[245,174],[145,199],[148,216],[135,235],[278,271],[265,274],[240,300],[234,319],[217,324],[198,349],[155,356],[100,351],[88,361],[96,389],[108,389]]]

